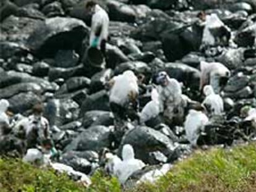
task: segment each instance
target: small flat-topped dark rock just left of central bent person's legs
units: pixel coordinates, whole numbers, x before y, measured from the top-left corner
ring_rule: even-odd
[[[108,111],[88,111],[83,116],[83,127],[88,128],[95,125],[113,125],[114,116]]]

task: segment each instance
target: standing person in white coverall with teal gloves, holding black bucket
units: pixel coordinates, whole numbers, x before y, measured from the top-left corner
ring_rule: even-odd
[[[90,47],[100,49],[103,55],[105,55],[109,27],[108,13],[96,4],[95,1],[88,1],[85,5],[85,9],[88,13],[93,14],[90,32]]]

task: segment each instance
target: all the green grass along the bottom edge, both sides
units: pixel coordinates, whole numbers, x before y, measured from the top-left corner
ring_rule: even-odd
[[[66,175],[42,170],[16,159],[0,159],[0,191],[85,191],[119,192],[116,178],[103,177],[96,172],[92,186],[84,188]],[[125,190],[127,191],[127,190]],[[256,191],[256,144],[233,149],[215,148],[197,151],[188,159],[174,165],[171,172],[155,184],[144,183],[129,192],[176,191]]]

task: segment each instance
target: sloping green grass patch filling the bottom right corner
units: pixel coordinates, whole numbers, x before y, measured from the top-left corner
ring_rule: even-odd
[[[132,191],[247,191],[255,188],[255,143],[233,149],[197,151],[174,165],[155,185],[144,183]],[[249,190],[255,191],[255,190]]]

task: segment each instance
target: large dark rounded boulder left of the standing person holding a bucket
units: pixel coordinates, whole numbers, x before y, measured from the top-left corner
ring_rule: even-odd
[[[88,27],[81,20],[53,17],[36,27],[28,46],[38,56],[54,56],[59,49],[80,49],[87,34]]]

